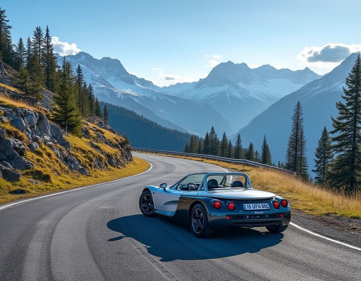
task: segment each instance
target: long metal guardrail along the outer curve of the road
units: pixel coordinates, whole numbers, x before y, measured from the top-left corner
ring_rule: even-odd
[[[219,157],[219,156],[213,156],[213,155],[204,155],[204,154],[195,154],[195,153],[186,153],[186,152],[175,152],[175,151],[164,151],[164,150],[155,150],[155,149],[148,149],[148,148],[135,148],[132,147],[132,151],[140,151],[140,152],[152,152],[152,153],[159,153],[159,154],[168,154],[168,155],[180,155],[180,156],[190,156],[190,157],[197,157],[197,158],[203,158],[203,159],[211,159],[211,160],[218,160],[218,161],[224,161],[229,163],[238,163],[238,164],[245,164],[245,165],[251,165],[254,167],[260,167],[265,169],[273,169],[273,170],[279,170],[281,172],[285,172],[288,174],[295,174],[292,171],[288,171],[285,169],[281,169],[278,167],[261,164],[245,159],[232,159],[232,158],[225,158],[225,157]]]

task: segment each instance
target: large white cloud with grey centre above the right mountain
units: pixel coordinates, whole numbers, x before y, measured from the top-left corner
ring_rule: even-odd
[[[329,43],[324,46],[305,47],[297,56],[301,65],[334,68],[351,53],[361,51],[361,44]]]

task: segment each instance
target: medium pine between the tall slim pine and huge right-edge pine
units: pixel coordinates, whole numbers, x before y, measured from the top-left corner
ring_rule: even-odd
[[[328,184],[330,176],[331,161],[334,155],[332,153],[332,142],[326,126],[323,128],[321,138],[318,140],[318,146],[315,151],[315,168],[312,172],[316,173],[316,183],[325,186]]]

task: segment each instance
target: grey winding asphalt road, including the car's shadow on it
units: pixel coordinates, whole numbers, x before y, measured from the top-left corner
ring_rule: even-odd
[[[0,280],[361,280],[361,252],[290,226],[222,231],[140,214],[145,185],[216,166],[136,154],[153,164],[121,181],[0,210]]]

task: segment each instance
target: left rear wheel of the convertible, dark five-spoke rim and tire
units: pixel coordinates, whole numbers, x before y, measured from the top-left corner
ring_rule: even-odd
[[[214,229],[209,227],[207,212],[202,204],[196,204],[192,208],[190,224],[195,237],[208,238],[214,234]]]

